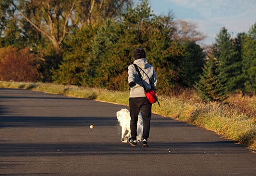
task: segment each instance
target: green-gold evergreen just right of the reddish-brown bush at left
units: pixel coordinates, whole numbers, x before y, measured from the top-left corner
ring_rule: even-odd
[[[92,39],[97,28],[85,27],[75,30],[66,41],[66,53],[59,69],[53,71],[53,81],[60,84],[92,86],[89,73]]]

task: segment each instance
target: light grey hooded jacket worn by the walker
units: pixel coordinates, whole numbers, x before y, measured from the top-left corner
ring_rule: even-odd
[[[154,67],[151,66],[146,61],[145,58],[134,60],[133,63],[135,63],[137,66],[139,66],[141,69],[143,69],[143,71],[145,71],[145,73],[149,76],[151,83],[153,84],[152,86],[154,86],[154,87],[150,86],[148,77],[145,75],[145,73],[143,73],[143,71],[140,71],[142,79],[143,79],[143,83],[144,83],[146,89],[149,90],[152,88],[156,91],[157,78],[156,78],[156,71],[155,71]],[[141,79],[140,79],[137,71],[135,70],[134,65],[130,65],[128,67],[128,75],[129,75],[128,83],[131,83],[131,82],[136,83],[136,85],[131,88],[130,97],[131,98],[146,97],[146,95],[144,93],[143,85],[141,83]]]

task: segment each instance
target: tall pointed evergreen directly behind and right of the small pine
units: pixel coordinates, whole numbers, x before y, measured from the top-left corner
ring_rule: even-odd
[[[214,57],[218,59],[219,81],[223,92],[232,93],[241,89],[242,58],[236,51],[233,39],[226,28],[222,28],[214,44]]]

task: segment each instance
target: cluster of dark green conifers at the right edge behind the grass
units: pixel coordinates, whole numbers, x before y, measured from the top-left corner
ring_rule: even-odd
[[[203,100],[225,101],[237,92],[255,94],[256,23],[235,38],[221,28],[199,77],[195,87]]]

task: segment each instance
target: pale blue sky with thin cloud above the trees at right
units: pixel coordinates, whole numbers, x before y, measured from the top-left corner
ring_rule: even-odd
[[[247,32],[256,22],[256,0],[149,0],[155,14],[167,14],[175,19],[197,25],[197,30],[207,36],[202,41],[212,44],[222,27],[235,37]]]

